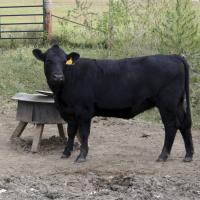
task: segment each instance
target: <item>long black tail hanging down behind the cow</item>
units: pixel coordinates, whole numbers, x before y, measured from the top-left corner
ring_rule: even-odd
[[[191,110],[190,110],[190,89],[189,89],[189,69],[190,66],[186,59],[181,56],[181,60],[184,64],[185,69],[185,95],[184,95],[184,110],[185,110],[185,116],[184,116],[184,128],[189,129],[192,126],[192,117],[191,117]]]

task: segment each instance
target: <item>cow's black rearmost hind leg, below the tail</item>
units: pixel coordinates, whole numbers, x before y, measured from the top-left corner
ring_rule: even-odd
[[[178,111],[179,130],[184,140],[186,155],[183,159],[184,162],[191,162],[194,154],[191,122],[188,122],[187,113],[184,111],[183,104],[180,104]]]

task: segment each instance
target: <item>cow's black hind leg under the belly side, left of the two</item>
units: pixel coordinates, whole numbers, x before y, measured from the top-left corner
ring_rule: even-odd
[[[166,161],[171,152],[171,148],[177,132],[176,113],[167,109],[159,110],[165,127],[165,140],[162,152],[158,157],[157,161]]]

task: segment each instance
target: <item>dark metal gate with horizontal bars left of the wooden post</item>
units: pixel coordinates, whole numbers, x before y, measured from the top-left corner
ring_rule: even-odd
[[[15,33],[33,33],[33,32],[37,32],[37,33],[44,33],[45,32],[45,9],[44,9],[44,5],[45,5],[45,0],[42,0],[41,5],[22,5],[22,6],[0,6],[0,10],[2,9],[8,9],[8,10],[12,10],[12,9],[26,9],[26,8],[42,8],[42,12],[38,12],[38,13],[30,13],[30,14],[2,14],[0,15],[0,39],[43,39],[43,37],[16,37]],[[26,21],[26,22],[20,22],[17,20],[18,17],[30,17],[30,16],[41,16],[41,19],[39,22],[33,22],[33,21]],[[4,22],[6,18],[9,17],[15,17],[16,18],[16,22]],[[34,27],[34,25],[42,25],[42,28],[40,29],[24,29],[24,25],[31,25]],[[19,29],[12,29],[12,30],[4,30],[4,27],[19,27]],[[20,28],[21,26],[21,28]],[[11,33],[12,36],[9,34]],[[8,36],[8,34],[10,36]]]

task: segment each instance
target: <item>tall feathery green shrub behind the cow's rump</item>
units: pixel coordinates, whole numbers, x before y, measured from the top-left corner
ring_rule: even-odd
[[[161,53],[190,56],[200,52],[199,23],[190,0],[176,0],[167,11],[165,21],[157,28]]]

